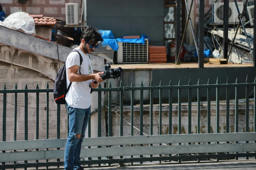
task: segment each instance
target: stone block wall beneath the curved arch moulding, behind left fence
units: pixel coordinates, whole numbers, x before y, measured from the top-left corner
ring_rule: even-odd
[[[54,81],[45,75],[28,68],[15,66],[0,62],[0,87],[3,89],[6,84],[7,89],[14,89],[17,83],[18,89],[24,89],[27,84],[28,89],[36,89],[38,84],[40,89],[53,89]],[[17,140],[24,140],[24,93],[17,95]],[[2,140],[2,120],[3,120],[3,94],[0,94],[0,141]],[[7,135],[6,140],[12,141],[14,137],[14,93],[7,94]],[[39,139],[46,138],[46,93],[39,95]],[[36,139],[36,93],[28,93],[28,139]],[[57,137],[57,105],[54,102],[53,94],[49,93],[49,138]],[[66,110],[61,106],[60,132],[61,137],[66,136]]]

